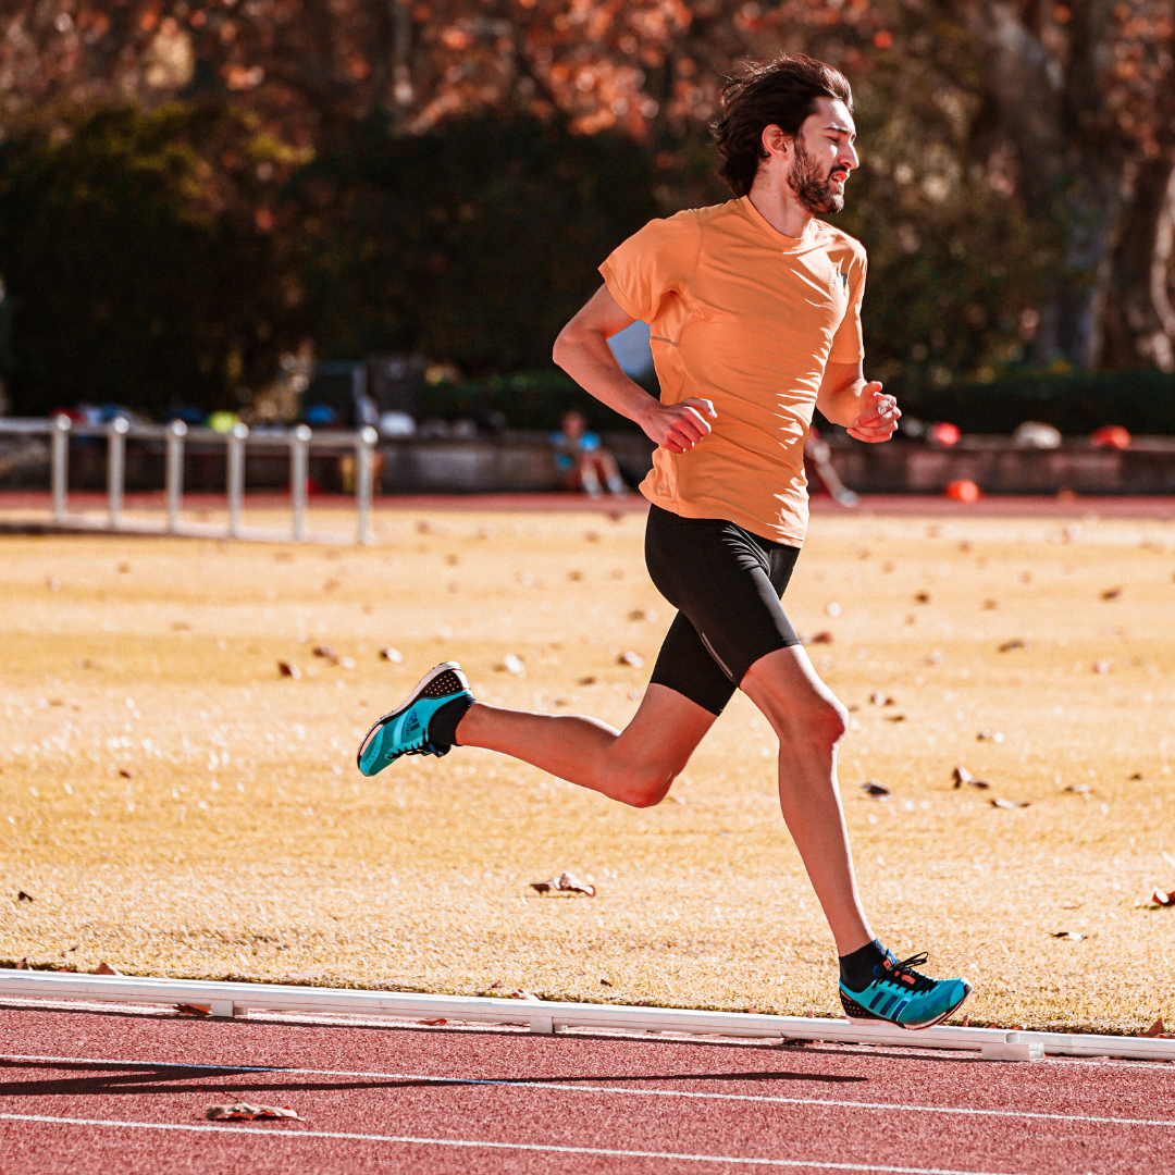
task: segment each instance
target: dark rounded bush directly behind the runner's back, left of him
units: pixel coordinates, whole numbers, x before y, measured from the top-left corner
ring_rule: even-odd
[[[649,152],[529,116],[356,126],[288,188],[323,358],[417,352],[481,378],[550,363],[597,266],[657,215]]]

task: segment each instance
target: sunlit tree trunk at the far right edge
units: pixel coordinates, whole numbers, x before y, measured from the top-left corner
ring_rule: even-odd
[[[1154,159],[1139,166],[1110,264],[1099,367],[1175,370],[1175,309],[1167,290],[1173,196],[1175,163]]]

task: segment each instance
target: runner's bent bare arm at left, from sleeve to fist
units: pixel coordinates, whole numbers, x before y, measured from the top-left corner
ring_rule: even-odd
[[[559,331],[552,358],[580,388],[634,421],[663,449],[689,452],[710,432],[705,418],[714,418],[714,405],[709,400],[662,404],[620,370],[607,341],[634,321],[602,286]]]

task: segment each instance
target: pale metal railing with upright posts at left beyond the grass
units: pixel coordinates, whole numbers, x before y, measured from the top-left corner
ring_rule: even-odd
[[[310,539],[307,530],[309,505],[310,455],[313,450],[330,454],[355,454],[355,542],[371,543],[371,497],[375,479],[375,445],[378,434],[372,428],[358,431],[329,432],[315,436],[306,425],[282,431],[250,432],[244,424],[233,425],[229,432],[212,429],[189,429],[182,421],[167,425],[132,424],[123,416],[116,416],[107,424],[78,424],[68,416],[52,419],[0,419],[2,436],[49,437],[49,484],[52,491],[52,521],[61,528],[80,526],[99,529],[82,515],[69,510],[69,439],[70,437],[106,439],[106,521],[101,529],[133,531],[134,533],[200,535],[219,533],[226,538],[253,538],[273,540],[291,538],[296,543]],[[127,475],[128,441],[162,441],[166,445],[164,496],[166,516],[161,526],[132,525],[125,518],[125,492]],[[183,458],[187,445],[201,449],[224,446],[226,498],[228,525],[219,529],[203,524],[184,523],[183,510]],[[246,448],[262,450],[287,450],[290,462],[290,529],[288,536],[281,531],[246,528],[242,521],[246,489]]]

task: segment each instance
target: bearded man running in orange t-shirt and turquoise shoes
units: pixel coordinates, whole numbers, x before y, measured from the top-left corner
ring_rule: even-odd
[[[888,441],[893,396],[862,374],[865,249],[815,217],[840,212],[858,166],[848,81],[810,58],[747,68],[723,95],[719,170],[734,193],[654,220],[602,266],[604,286],[564,327],[555,361],[657,443],[649,573],[678,613],[636,717],[501,710],[456,662],[434,669],[371,728],[360,770],[481,746],[622,804],[660,803],[741,690],[779,739],[779,803],[840,959],[854,1022],[927,1028],[971,993],[899,962],[865,916],[837,788],[847,713],[817,677],[780,604],[807,530],[804,441],[813,408],[858,441]],[[607,340],[651,327],[662,398]]]

